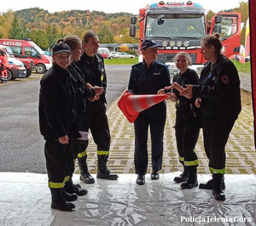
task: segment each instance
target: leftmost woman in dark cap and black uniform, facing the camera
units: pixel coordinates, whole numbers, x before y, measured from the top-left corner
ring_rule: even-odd
[[[39,125],[44,136],[44,155],[52,195],[51,207],[73,211],[77,195],[64,191],[73,164],[73,140],[76,136],[75,92],[67,66],[71,62],[71,49],[65,43],[53,48],[54,64],[41,79],[39,94]],[[65,197],[64,197],[65,196]],[[71,198],[71,199],[70,199]]]

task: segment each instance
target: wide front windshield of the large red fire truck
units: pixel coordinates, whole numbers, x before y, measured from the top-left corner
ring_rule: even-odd
[[[206,35],[204,14],[148,14],[145,37],[201,39]]]

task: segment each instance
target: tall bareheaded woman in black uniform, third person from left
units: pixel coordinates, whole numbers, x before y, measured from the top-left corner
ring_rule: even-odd
[[[99,39],[93,31],[87,31],[84,34],[84,54],[77,62],[79,69],[83,72],[84,81],[91,86],[103,87],[104,92],[88,100],[86,103],[85,115],[82,121],[83,131],[89,131],[92,134],[94,142],[97,145],[97,178],[115,180],[118,178],[108,170],[107,162],[110,148],[110,132],[108,127],[108,117],[106,115],[106,88],[107,76],[104,68],[102,56],[97,54],[99,48]],[[82,151],[78,155],[79,167],[81,171],[80,179],[86,184],[92,184],[95,179],[90,175],[87,167],[87,149],[88,140],[84,142]]]

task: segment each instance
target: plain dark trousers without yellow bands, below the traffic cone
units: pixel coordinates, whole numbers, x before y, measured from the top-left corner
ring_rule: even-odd
[[[148,127],[151,134],[151,160],[152,170],[162,168],[163,137],[166,124],[166,103],[154,105],[143,110],[136,121],[135,130],[135,155],[134,164],[137,174],[146,174],[148,167]]]

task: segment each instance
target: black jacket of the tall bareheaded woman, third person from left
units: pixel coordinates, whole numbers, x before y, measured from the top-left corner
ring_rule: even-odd
[[[76,62],[79,69],[84,75],[84,81],[90,85],[104,88],[104,92],[100,95],[100,99],[95,103],[106,103],[107,75],[105,71],[104,61],[101,54],[95,54],[93,57],[87,56],[85,53],[81,59]],[[94,102],[93,102],[94,103]]]

